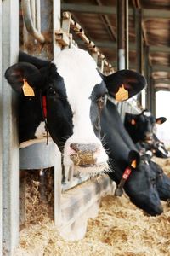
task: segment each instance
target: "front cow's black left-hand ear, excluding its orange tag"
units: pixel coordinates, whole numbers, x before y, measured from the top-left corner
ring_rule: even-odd
[[[5,78],[8,84],[17,92],[21,93],[24,81],[27,82],[32,88],[37,87],[40,83],[41,73],[34,65],[26,62],[19,62],[14,64],[5,72]]]

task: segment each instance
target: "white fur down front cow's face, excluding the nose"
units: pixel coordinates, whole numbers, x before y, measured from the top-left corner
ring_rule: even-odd
[[[54,61],[57,71],[65,81],[68,102],[73,113],[73,135],[66,141],[64,149],[64,164],[71,166],[72,161],[68,154],[71,143],[99,144],[99,153],[96,155],[97,163],[106,163],[108,156],[95,136],[90,119],[90,106],[92,91],[102,79],[97,72],[94,59],[88,52],[72,48],[60,52]]]

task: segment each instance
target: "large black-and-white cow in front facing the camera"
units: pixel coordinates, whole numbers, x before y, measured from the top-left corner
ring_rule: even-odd
[[[74,166],[79,172],[108,168],[100,140],[107,92],[116,96],[123,87],[131,97],[145,86],[144,78],[133,71],[100,74],[88,52],[77,48],[62,50],[54,63],[20,52],[19,63],[9,67],[5,77],[20,95],[20,143],[45,137],[48,128],[64,151],[65,168]]]

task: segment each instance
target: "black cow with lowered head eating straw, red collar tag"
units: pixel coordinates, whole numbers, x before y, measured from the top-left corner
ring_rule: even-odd
[[[108,149],[112,180],[116,181],[116,195],[122,195],[122,188],[130,200],[150,215],[161,214],[160,196],[156,189],[156,172],[144,158],[129,137],[116,105],[107,101],[101,114],[101,129],[105,147]]]

